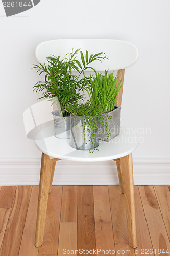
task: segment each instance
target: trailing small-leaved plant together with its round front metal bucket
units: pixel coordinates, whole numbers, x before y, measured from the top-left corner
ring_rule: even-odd
[[[109,129],[106,121],[110,119],[100,105],[87,100],[86,103],[75,102],[66,106],[70,116],[70,146],[77,150],[94,150],[99,146],[98,121],[101,120],[101,127],[106,136],[109,136]],[[107,132],[106,132],[107,131]],[[98,150],[98,149],[97,149]],[[90,151],[91,153],[93,151]]]

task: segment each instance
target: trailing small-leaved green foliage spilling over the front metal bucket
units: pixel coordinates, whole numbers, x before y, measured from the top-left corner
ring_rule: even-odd
[[[99,126],[99,119],[101,125],[101,132],[104,133],[106,136],[109,137],[110,129],[108,128],[108,120],[110,121],[111,117],[108,116],[101,107],[101,105],[96,105],[94,102],[90,102],[87,100],[86,103],[74,102],[73,104],[68,104],[66,106],[67,112],[70,112],[72,115],[80,116],[82,120],[82,127],[83,127],[83,138],[85,141],[85,131],[89,133],[89,141],[93,145],[93,150],[95,144],[98,140],[96,137],[95,132],[98,130]],[[76,125],[76,124],[75,124]],[[96,148],[96,150],[99,150]],[[89,151],[93,153],[94,151]]]

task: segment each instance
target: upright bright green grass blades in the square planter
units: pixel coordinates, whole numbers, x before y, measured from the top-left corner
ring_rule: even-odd
[[[87,92],[91,102],[102,106],[104,112],[112,111],[116,103],[116,96],[122,87],[121,81],[117,84],[118,77],[114,77],[113,72],[109,74],[108,70],[105,70],[104,75],[98,72],[89,79]]]

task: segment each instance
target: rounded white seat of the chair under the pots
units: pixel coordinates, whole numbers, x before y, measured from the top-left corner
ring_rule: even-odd
[[[129,129],[121,127],[120,134],[110,141],[100,141],[99,151],[76,150],[69,145],[69,139],[59,139],[54,136],[54,126],[48,126],[39,131],[35,144],[44,154],[71,161],[97,162],[121,158],[132,153],[138,145],[137,138],[130,134]]]

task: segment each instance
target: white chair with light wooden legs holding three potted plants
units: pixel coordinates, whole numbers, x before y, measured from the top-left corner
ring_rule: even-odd
[[[71,52],[72,48],[75,50],[81,48],[83,52],[88,50],[89,54],[104,52],[109,56],[109,61],[103,60],[102,63],[96,61],[93,67],[97,71],[118,70],[118,82],[120,80],[124,81],[125,68],[132,66],[138,59],[138,50],[133,44],[125,41],[103,39],[62,39],[42,42],[36,48],[36,57],[38,62],[44,63],[46,61],[45,57],[50,56],[50,54],[64,56]],[[117,97],[116,105],[118,106],[121,106],[122,92],[123,87]],[[45,103],[45,108],[46,105]],[[48,105],[48,107],[48,114],[50,115],[50,106]],[[54,136],[51,117],[46,118],[43,125],[41,120],[36,124],[33,109],[36,110],[37,108],[33,107],[31,111],[27,110],[27,113],[25,113],[25,119],[27,119],[27,114],[30,118],[30,121],[26,122],[30,123],[28,134],[35,139],[36,146],[42,152],[35,246],[41,246],[43,242],[48,193],[51,191],[56,161],[66,159],[75,162],[116,161],[120,188],[125,197],[129,245],[136,248],[132,164],[132,152],[138,145],[135,136],[126,134],[125,130],[122,130],[118,136],[109,142],[101,141],[99,151],[94,151],[93,154],[88,151],[75,150],[70,147],[69,139],[62,140]]]

